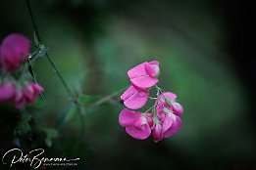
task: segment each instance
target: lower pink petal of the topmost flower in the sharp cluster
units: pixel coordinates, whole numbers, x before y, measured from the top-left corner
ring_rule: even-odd
[[[133,85],[135,85],[139,88],[147,89],[147,88],[154,86],[158,82],[158,79],[147,75],[147,76],[140,76],[140,77],[132,78],[132,79],[130,79],[130,81]]]

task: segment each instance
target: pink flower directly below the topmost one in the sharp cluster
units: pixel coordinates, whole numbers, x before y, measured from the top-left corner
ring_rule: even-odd
[[[128,90],[121,96],[125,106],[130,109],[138,109],[145,106],[148,98],[148,91],[137,89],[134,86],[130,86]]]

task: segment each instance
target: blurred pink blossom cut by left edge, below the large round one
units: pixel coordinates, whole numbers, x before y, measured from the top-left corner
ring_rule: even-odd
[[[12,82],[0,85],[0,103],[12,100],[15,95],[15,86]]]

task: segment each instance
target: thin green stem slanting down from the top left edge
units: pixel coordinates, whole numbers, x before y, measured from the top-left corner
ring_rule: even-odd
[[[39,30],[38,30],[37,25],[36,25],[35,20],[34,20],[34,15],[33,15],[33,13],[32,13],[32,9],[31,9],[31,5],[30,5],[29,0],[26,0],[26,7],[27,7],[27,10],[28,10],[28,13],[29,13],[29,16],[30,16],[32,25],[33,25],[33,29],[34,29],[34,32],[35,32],[35,36],[36,36],[38,42],[39,42],[40,44],[43,44],[42,38],[41,38],[41,36],[40,36]],[[53,63],[51,57],[49,56],[49,54],[48,54],[47,52],[46,52],[46,58],[47,58],[47,60],[49,61],[49,63],[51,64],[51,66],[53,67],[54,72],[56,72],[57,76],[59,77],[59,79],[60,79],[61,83],[63,84],[65,90],[67,91],[69,97],[70,97],[71,99],[73,99],[71,89],[69,88],[69,86],[68,86],[68,84],[66,83],[65,79],[63,78],[62,74],[61,74],[60,71],[58,70],[57,66]]]

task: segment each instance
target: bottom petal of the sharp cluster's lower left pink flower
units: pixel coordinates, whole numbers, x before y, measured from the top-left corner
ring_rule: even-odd
[[[128,126],[126,127],[126,131],[128,135],[137,140],[144,140],[148,138],[151,133],[151,129],[148,123],[141,125],[140,128],[137,128],[135,126]]]

